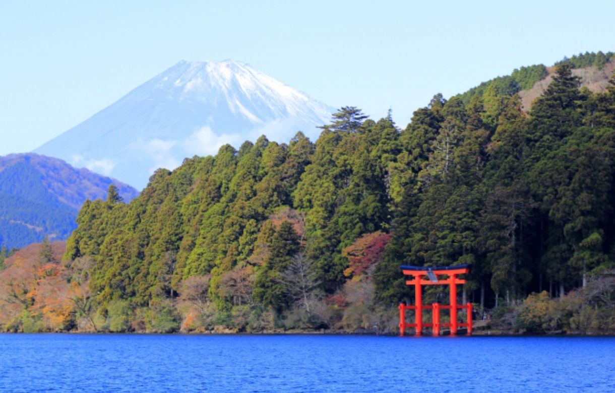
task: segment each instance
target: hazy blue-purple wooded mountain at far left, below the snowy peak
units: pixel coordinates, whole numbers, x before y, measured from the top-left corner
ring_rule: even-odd
[[[66,239],[86,199],[104,199],[111,184],[125,200],[137,190],[87,169],[38,154],[0,157],[0,245],[23,247],[40,241]]]

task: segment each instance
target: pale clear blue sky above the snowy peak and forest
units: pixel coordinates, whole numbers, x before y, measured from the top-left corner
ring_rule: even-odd
[[[615,50],[609,1],[3,1],[0,154],[30,151],[179,60],[239,60],[402,127],[523,65]]]

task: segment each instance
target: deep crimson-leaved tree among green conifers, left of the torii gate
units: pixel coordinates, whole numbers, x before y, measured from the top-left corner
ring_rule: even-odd
[[[348,258],[346,277],[360,277],[370,273],[383,257],[384,248],[391,241],[393,234],[376,231],[364,234],[351,245],[344,248],[342,255]]]

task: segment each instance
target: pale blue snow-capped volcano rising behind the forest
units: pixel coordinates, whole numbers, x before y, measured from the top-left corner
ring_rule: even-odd
[[[225,143],[315,138],[332,110],[244,63],[182,61],[35,152],[143,188],[157,168]]]

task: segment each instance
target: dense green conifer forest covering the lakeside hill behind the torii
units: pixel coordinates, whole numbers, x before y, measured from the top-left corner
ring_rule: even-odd
[[[435,95],[405,129],[346,106],[315,142],[226,145],[157,170],[129,204],[111,186],[57,261],[79,308],[55,328],[393,331],[411,299],[400,264],[467,263],[460,296],[479,309],[615,330],[615,77],[592,93],[573,67],[528,113],[517,92],[544,66]]]

